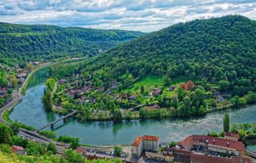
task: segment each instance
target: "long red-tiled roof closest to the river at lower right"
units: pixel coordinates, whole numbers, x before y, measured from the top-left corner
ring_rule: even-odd
[[[182,146],[184,146],[184,148],[187,148],[191,143],[205,143],[207,139],[208,139],[208,144],[211,144],[211,145],[222,146],[226,148],[233,148],[237,151],[246,151],[246,148],[241,141],[232,141],[232,140],[222,139],[218,137],[209,137],[206,135],[190,135],[189,137],[186,137],[182,141]],[[215,139],[215,142],[214,142],[214,139]],[[227,143],[229,143],[228,146],[227,146]]]

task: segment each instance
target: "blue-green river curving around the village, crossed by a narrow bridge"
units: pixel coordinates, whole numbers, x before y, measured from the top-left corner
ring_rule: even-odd
[[[33,74],[26,94],[10,112],[10,119],[38,128],[60,117],[53,112],[46,112],[43,108],[41,97],[45,88],[47,68],[40,69]],[[163,120],[133,120],[122,122],[79,122],[68,119],[55,124],[57,135],[79,137],[81,144],[94,146],[109,144],[131,144],[136,135],[158,135],[161,142],[179,141],[191,134],[207,134],[210,131],[221,132],[224,111],[212,112],[204,117],[191,117],[187,119]],[[256,105],[243,109],[230,110],[231,123],[255,122]],[[47,128],[46,130],[50,130]],[[255,148],[255,146],[251,147]],[[256,151],[256,149],[255,149]]]

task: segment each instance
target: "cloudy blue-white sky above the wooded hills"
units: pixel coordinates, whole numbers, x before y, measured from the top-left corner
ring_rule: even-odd
[[[256,0],[0,0],[0,22],[143,32],[234,14],[256,19]]]

